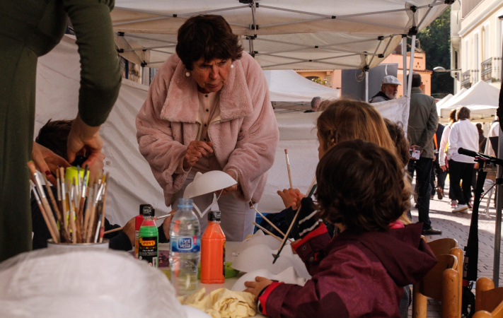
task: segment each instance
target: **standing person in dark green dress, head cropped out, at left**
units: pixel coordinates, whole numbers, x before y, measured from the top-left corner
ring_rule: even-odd
[[[113,6],[113,0],[0,1],[0,261],[32,248],[28,160],[52,183],[51,171],[69,166],[33,142],[37,59],[59,43],[68,20],[81,56],[81,87],[67,158],[73,161],[85,149],[88,165],[98,160],[103,145],[98,130],[121,82]]]

